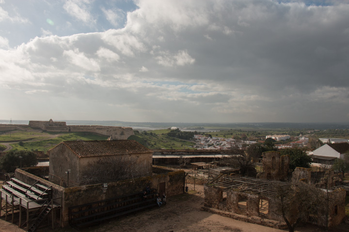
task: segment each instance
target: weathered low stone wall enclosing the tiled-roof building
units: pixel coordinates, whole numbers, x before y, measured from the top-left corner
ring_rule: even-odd
[[[160,167],[156,168],[159,171]],[[20,169],[16,169],[16,178],[28,184],[33,184],[37,180],[40,180],[40,182],[46,186],[52,185],[53,198],[62,197],[62,226],[67,226],[69,219],[68,209],[71,206],[141,192],[146,186],[156,188],[159,191],[161,183],[165,183],[167,197],[184,193],[185,172],[168,172],[168,170],[165,169],[162,174],[118,182],[109,182],[107,183],[107,189],[103,188],[103,184],[63,188]],[[61,202],[58,203],[61,204]]]

